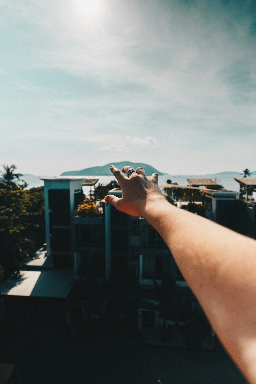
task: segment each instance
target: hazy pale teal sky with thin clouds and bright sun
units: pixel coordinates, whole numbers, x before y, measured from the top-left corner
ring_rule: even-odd
[[[256,0],[0,0],[0,164],[256,170]]]

